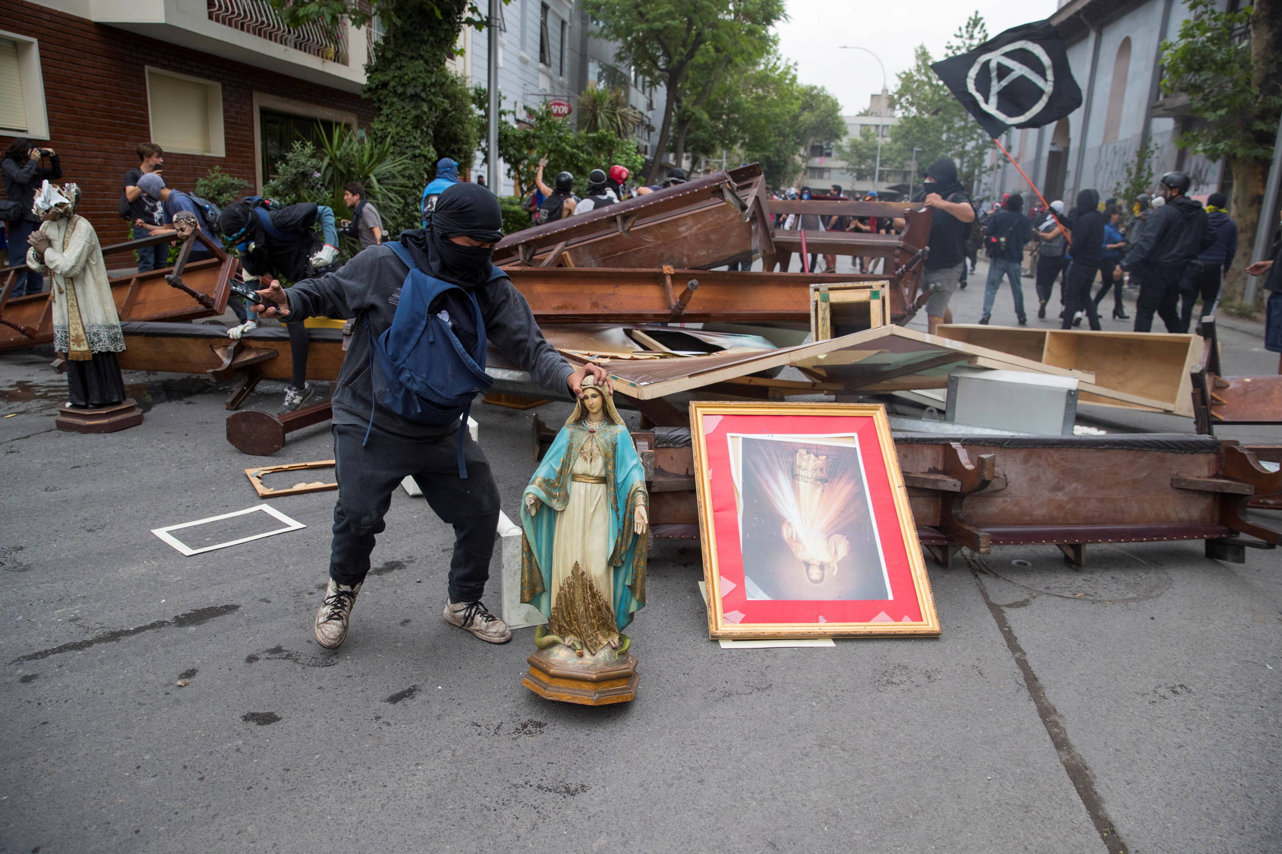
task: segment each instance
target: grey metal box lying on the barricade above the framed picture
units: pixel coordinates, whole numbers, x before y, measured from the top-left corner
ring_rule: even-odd
[[[1072,435],[1077,380],[1010,370],[956,367],[949,375],[947,420],[1033,433]]]

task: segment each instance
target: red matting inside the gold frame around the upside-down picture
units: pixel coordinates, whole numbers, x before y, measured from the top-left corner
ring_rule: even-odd
[[[704,415],[708,484],[712,498],[717,568],[722,576],[720,609],[726,622],[763,624],[900,624],[926,622],[904,543],[912,519],[901,520],[895,488],[886,471],[882,440],[870,415]],[[873,506],[876,535],[890,581],[891,599],[749,599],[740,549],[738,507],[731,467],[729,434],[850,435],[859,439],[864,484]],[[731,584],[726,584],[729,581]]]

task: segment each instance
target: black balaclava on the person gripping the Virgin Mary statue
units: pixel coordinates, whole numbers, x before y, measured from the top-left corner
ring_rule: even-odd
[[[499,198],[481,184],[451,184],[427,216],[427,228],[403,232],[400,242],[414,264],[437,279],[474,288],[490,280],[492,248],[460,246],[446,238],[472,237],[486,243],[503,239]]]

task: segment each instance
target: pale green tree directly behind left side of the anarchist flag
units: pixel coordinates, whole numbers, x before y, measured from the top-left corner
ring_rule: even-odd
[[[953,35],[953,41],[945,47],[945,56],[974,50],[987,40],[988,28],[983,17],[976,12]],[[931,70],[932,61],[931,51],[919,45],[914,51],[913,67],[899,76],[899,86],[891,95],[891,102],[900,119],[891,128],[891,145],[882,146],[882,163],[887,163],[887,159],[891,163],[909,163],[913,160],[913,149],[919,149],[918,163],[951,157],[958,164],[962,183],[973,189],[988,170],[992,138]]]

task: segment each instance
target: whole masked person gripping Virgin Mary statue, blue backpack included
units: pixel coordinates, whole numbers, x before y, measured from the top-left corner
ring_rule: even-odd
[[[473,396],[488,388],[486,343],[541,387],[581,394],[597,365],[574,370],[544,338],[526,298],[490,259],[503,238],[499,200],[479,184],[445,189],[426,228],[372,246],[341,269],[258,291],[254,311],[294,324],[354,319],[333,392],[335,474],[329,583],[313,635],[336,649],[369,572],[392,492],[414,478],[454,526],[445,620],[488,643],[512,630],[481,602],[499,524],[499,487],[467,429]]]

